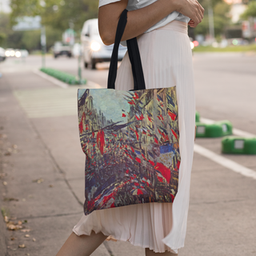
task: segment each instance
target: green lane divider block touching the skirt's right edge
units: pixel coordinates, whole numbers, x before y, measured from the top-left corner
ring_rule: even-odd
[[[214,122],[213,124],[205,124],[202,122],[196,122],[197,138],[218,138],[232,134],[231,122],[225,120],[220,122]]]

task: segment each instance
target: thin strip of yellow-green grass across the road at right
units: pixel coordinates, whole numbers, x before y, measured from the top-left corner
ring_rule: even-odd
[[[197,46],[194,52],[235,52],[235,51],[256,51],[256,44],[248,46],[226,46],[226,48],[214,48],[213,46]]]

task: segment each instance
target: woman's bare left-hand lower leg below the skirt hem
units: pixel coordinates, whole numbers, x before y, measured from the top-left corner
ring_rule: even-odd
[[[72,232],[56,256],[89,256],[106,240],[101,232],[78,236]]]

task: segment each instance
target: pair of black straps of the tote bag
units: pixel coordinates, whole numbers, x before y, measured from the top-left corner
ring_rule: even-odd
[[[118,71],[118,47],[121,42],[122,34],[126,28],[127,12],[128,10],[123,10],[118,22],[118,28],[114,39],[114,48],[110,60],[110,70],[107,82],[108,89],[115,89],[114,83],[117,78]],[[137,38],[131,38],[126,42],[134,77],[134,90],[145,90],[146,86],[142,69],[142,61],[138,50]]]

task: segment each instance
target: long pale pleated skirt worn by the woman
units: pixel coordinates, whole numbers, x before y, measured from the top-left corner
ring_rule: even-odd
[[[178,194],[173,203],[146,203],[96,210],[76,226],[77,235],[102,232],[154,252],[178,253],[184,246],[190,198],[190,174],[194,152],[194,74],[187,23],[173,21],[138,37],[146,89],[176,86],[180,130],[181,165]],[[117,90],[134,88],[128,54],[118,69]]]

